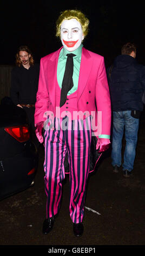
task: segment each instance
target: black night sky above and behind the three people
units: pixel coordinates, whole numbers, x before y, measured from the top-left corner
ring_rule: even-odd
[[[69,2],[71,2],[69,4]],[[145,65],[144,8],[142,1],[1,1],[1,65],[15,65],[20,45],[28,45],[35,62],[61,47],[56,20],[65,9],[80,9],[88,17],[89,33],[83,45],[104,56],[106,66],[130,41],[137,46],[137,61]]]

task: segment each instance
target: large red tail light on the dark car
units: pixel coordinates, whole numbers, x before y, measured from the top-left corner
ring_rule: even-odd
[[[12,137],[17,139],[19,142],[25,142],[30,139],[30,132],[28,126],[14,126],[14,127],[6,127],[4,129],[8,132]]]

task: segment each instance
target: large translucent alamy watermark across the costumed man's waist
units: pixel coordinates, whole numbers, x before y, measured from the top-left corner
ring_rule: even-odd
[[[95,136],[102,133],[102,111],[69,111],[60,112],[56,107],[56,113],[47,111],[43,115],[46,120],[43,123],[44,130],[92,130]],[[96,120],[97,119],[97,120]]]

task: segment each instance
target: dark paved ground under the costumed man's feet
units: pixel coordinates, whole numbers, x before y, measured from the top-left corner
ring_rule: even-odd
[[[124,148],[124,142],[123,142]],[[39,166],[35,186],[0,202],[0,245],[34,245],[55,247],[144,245],[145,191],[145,120],[141,120],[134,175],[130,178],[113,173],[110,151],[104,153],[96,171],[89,176],[85,206],[84,234],[77,238],[69,217],[69,177],[63,184],[60,214],[54,229],[42,234],[45,218],[43,184],[43,147],[39,149]],[[99,214],[100,215],[99,215]]]

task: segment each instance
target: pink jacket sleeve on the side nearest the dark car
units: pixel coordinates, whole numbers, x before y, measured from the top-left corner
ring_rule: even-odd
[[[38,82],[38,91],[36,95],[36,103],[35,103],[35,126],[37,123],[41,121],[45,121],[46,117],[44,117],[44,113],[48,110],[48,101],[49,94],[47,90],[47,74],[44,70],[43,58],[40,63],[40,71],[39,71],[39,82]]]

